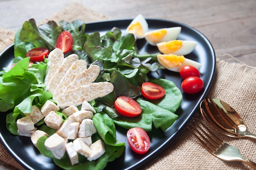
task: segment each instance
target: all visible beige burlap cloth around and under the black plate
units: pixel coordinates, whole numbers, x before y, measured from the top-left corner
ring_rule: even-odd
[[[111,18],[87,9],[80,4],[74,4],[67,7],[64,11],[54,14],[51,18],[45,19],[42,23],[47,22],[47,20],[55,20],[56,22],[65,20],[70,22],[75,19],[89,22]],[[13,36],[14,33],[12,31],[0,29],[0,51],[13,42]],[[229,59],[229,62],[221,60],[223,58],[225,60]],[[244,119],[249,130],[256,134],[256,68],[237,62],[230,62],[230,58],[232,56],[228,54],[217,56],[216,75],[207,97],[218,98],[231,104]],[[195,114],[195,117],[202,119],[199,111]],[[234,139],[219,133],[218,135],[225,142],[238,147],[244,156],[256,162],[255,141],[250,139]],[[0,143],[0,161],[10,165],[9,169],[24,169],[13,159],[2,143]],[[214,157],[201,146],[187,128],[184,128],[166,150],[157,155],[150,163],[146,163],[141,169],[249,170],[250,168],[240,162],[224,162]]]

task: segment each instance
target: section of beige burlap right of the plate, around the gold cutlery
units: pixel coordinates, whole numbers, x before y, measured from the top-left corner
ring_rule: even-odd
[[[256,68],[217,59],[216,75],[208,97],[218,98],[230,104],[244,119],[249,131],[256,134]],[[196,117],[207,124],[199,111],[191,121]],[[245,138],[235,139],[218,132],[215,134],[228,144],[239,148],[245,157],[256,161],[255,141]],[[251,168],[240,162],[225,162],[214,157],[203,148],[187,128],[184,128],[175,141],[145,169],[249,170]]]

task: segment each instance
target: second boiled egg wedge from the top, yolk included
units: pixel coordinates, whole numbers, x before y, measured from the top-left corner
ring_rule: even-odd
[[[180,26],[156,29],[145,33],[145,39],[149,44],[156,46],[159,42],[166,42],[177,39],[180,31]]]

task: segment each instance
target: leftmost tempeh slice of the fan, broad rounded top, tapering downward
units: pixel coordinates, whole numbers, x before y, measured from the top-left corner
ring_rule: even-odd
[[[58,70],[59,66],[61,66],[61,62],[63,61],[64,53],[61,49],[54,49],[48,55],[47,68],[45,73],[45,81],[44,84],[47,85],[49,80],[52,78],[54,73]],[[47,90],[47,88],[45,89]]]

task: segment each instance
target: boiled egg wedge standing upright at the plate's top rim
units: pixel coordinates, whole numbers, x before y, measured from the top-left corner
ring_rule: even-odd
[[[135,17],[126,29],[127,33],[132,33],[137,39],[144,38],[145,33],[148,32],[148,23],[144,16],[139,14]]]

